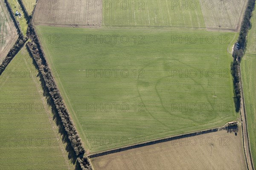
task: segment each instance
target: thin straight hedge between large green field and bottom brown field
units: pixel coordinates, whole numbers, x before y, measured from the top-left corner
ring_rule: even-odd
[[[200,130],[200,131],[196,131],[196,132],[192,132],[192,133],[184,133],[184,134],[177,135],[177,136],[169,136],[166,138],[160,138],[160,139],[151,140],[151,141],[143,142],[143,143],[139,143],[139,144],[132,144],[132,145],[128,145],[125,147],[118,147],[118,148],[111,149],[111,150],[105,150],[105,151],[98,152],[98,153],[92,153],[87,156],[88,156],[88,158],[91,159],[91,158],[104,156],[104,155],[108,155],[111,153],[118,153],[118,152],[130,150],[130,149],[134,149],[134,148],[138,148],[138,147],[144,147],[144,146],[148,146],[148,145],[152,145],[152,144],[168,142],[168,141],[182,139],[182,138],[186,138],[186,137],[190,137],[190,136],[197,136],[197,135],[201,135],[201,134],[217,132],[219,130],[227,130],[227,126],[224,125],[223,127],[215,127],[215,128],[211,128],[211,129],[207,129],[207,130]]]

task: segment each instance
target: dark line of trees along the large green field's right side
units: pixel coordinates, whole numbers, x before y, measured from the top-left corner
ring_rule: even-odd
[[[248,31],[251,28],[250,18],[252,17],[252,13],[255,7],[255,0],[249,0],[247,4],[247,8],[244,13],[244,18],[241,23],[241,28],[239,32],[239,38],[237,42],[239,43],[239,49],[234,49],[233,51],[233,62],[231,63],[231,74],[233,76],[233,85],[235,89],[235,97],[234,102],[236,106],[236,111],[238,112],[240,110],[240,103],[241,103],[241,77],[239,74],[239,68],[240,68],[240,62],[241,58],[244,55],[244,52],[246,51],[246,37],[248,34]]]

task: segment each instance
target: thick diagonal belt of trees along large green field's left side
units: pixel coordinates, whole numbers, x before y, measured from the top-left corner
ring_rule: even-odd
[[[74,126],[72,119],[70,117],[70,113],[68,112],[64,100],[58,90],[58,87],[53,78],[51,69],[47,63],[47,59],[44,55],[43,49],[40,44],[40,40],[35,32],[35,28],[32,22],[29,22],[29,26],[27,29],[27,36],[31,39],[30,42],[27,43],[30,54],[35,59],[36,64],[38,65],[39,72],[41,73],[46,87],[49,91],[49,94],[54,102],[54,105],[58,111],[58,114],[61,118],[61,122],[67,132],[68,139],[73,147],[76,156],[84,156],[85,150],[81,143],[81,138]],[[91,165],[88,161],[88,158],[84,156],[83,158],[77,159],[82,170],[90,170]]]

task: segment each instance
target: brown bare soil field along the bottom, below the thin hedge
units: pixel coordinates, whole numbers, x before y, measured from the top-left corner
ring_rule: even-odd
[[[241,127],[92,158],[95,170],[245,170]]]

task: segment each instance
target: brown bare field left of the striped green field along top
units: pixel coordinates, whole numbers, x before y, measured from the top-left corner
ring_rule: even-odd
[[[94,1],[93,1],[94,2]],[[88,8],[87,0],[38,0],[34,23],[48,26],[100,27],[102,0],[95,0],[95,8]]]

